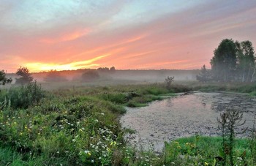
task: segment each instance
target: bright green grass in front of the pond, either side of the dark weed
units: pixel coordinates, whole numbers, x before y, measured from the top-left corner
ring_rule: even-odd
[[[222,137],[183,137],[165,143],[163,160],[165,165],[222,165],[221,147]],[[250,165],[249,140],[235,139],[233,151],[236,165]]]

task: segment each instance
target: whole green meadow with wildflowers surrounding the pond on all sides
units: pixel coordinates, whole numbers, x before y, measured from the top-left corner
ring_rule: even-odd
[[[0,94],[0,165],[230,165],[223,137],[185,137],[162,153],[143,151],[124,139],[118,118],[125,107],[186,91],[233,91],[255,95],[255,84],[136,83],[56,88],[29,83]],[[51,91],[46,91],[45,87]],[[229,139],[227,138],[227,141]],[[255,164],[255,135],[233,141],[233,162]],[[230,150],[227,148],[227,150]]]

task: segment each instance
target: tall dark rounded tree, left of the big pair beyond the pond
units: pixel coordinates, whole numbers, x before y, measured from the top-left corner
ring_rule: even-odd
[[[236,44],[233,39],[223,39],[214,57],[211,59],[211,69],[214,79],[221,81],[233,80],[236,72]]]

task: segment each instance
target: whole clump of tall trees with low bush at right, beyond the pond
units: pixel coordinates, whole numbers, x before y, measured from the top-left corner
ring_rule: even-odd
[[[255,50],[248,40],[234,42],[233,39],[223,39],[214,50],[210,64],[211,69],[206,69],[203,65],[197,80],[243,83],[255,81]]]

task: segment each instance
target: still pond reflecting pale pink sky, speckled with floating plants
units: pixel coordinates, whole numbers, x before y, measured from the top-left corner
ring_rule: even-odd
[[[228,107],[241,110],[248,127],[253,127],[256,99],[244,94],[202,93],[178,94],[176,97],[151,102],[146,107],[127,107],[121,117],[124,128],[134,129],[127,140],[134,146],[161,151],[164,142],[192,135],[219,135],[217,117]]]

